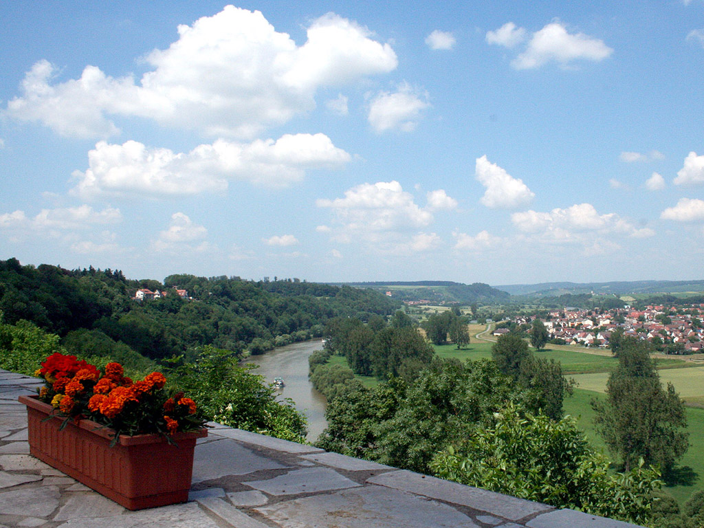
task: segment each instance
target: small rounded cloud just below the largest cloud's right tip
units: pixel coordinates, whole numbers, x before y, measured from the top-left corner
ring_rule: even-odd
[[[421,113],[430,106],[428,96],[408,83],[402,83],[396,92],[379,92],[369,105],[368,120],[376,132],[399,129],[411,132]]]

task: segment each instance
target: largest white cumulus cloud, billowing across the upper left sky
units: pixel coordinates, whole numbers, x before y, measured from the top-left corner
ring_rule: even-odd
[[[65,136],[108,137],[119,132],[113,119],[128,116],[251,139],[315,108],[321,87],[388,73],[398,64],[389,44],[334,13],[313,20],[302,46],[259,11],[234,6],[180,25],[178,34],[168,49],[146,56],[152,69],[139,81],[89,65],[80,78],[58,82],[54,65],[39,61],[6,114]]]

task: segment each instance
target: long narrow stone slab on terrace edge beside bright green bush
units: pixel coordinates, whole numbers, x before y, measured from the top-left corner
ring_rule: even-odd
[[[534,503],[522,498],[486,491],[486,489],[472,488],[471,486],[457,484],[456,482],[436,477],[427,477],[426,475],[406,470],[380,474],[367,479],[367,482],[469,506],[475,510],[482,510],[512,521],[553,509],[546,504]]]

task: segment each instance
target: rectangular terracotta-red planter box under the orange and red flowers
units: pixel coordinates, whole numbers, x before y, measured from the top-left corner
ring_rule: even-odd
[[[196,439],[207,429],[176,433],[169,444],[159,434],[121,434],[111,447],[112,429],[91,420],[46,420],[54,410],[37,396],[20,396],[27,406],[30,453],[129,510],[188,500]],[[46,421],[45,421],[46,420]]]

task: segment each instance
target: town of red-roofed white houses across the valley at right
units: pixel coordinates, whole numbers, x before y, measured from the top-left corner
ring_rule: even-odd
[[[509,325],[530,325],[537,316],[520,315]],[[553,344],[572,344],[608,348],[612,332],[622,329],[624,336],[647,339],[658,351],[691,354],[704,351],[704,304],[688,306],[630,306],[610,310],[565,308],[551,310],[540,318]],[[498,325],[497,335],[508,332]]]

